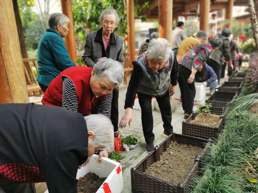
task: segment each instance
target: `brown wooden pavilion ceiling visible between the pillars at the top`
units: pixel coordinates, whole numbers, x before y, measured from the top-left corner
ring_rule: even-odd
[[[146,0],[139,0],[142,5]],[[173,0],[173,17],[184,15],[198,15],[198,5],[201,0]],[[228,0],[211,0],[210,11],[224,9]],[[248,6],[248,0],[235,0],[234,6]],[[144,9],[141,15],[146,14],[148,19],[158,19],[158,0],[149,0],[149,8]]]

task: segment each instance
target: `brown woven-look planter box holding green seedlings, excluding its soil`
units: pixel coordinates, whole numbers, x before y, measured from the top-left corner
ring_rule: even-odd
[[[204,107],[202,107],[204,108]],[[223,108],[211,107],[211,114],[221,115],[220,122],[216,127],[199,125],[195,123],[191,123],[191,120],[195,120],[195,117],[199,114],[199,112],[193,113],[188,119],[182,122],[182,134],[183,135],[191,135],[201,138],[218,138],[219,134],[223,128]]]

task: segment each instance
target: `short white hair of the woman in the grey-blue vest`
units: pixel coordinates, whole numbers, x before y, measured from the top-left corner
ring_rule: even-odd
[[[170,57],[170,53],[170,43],[165,38],[157,38],[150,40],[147,49],[148,59],[157,58],[166,61]]]

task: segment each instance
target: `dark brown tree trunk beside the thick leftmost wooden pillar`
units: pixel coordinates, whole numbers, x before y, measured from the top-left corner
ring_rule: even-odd
[[[18,36],[19,36],[21,56],[22,56],[22,58],[28,58],[28,52],[27,52],[27,48],[26,48],[25,37],[23,34],[21,16],[20,16],[17,0],[13,0],[13,10],[14,10],[14,16],[15,16],[15,21],[16,21],[16,25],[17,25]],[[27,71],[30,72],[30,67],[27,62],[25,63],[25,67],[27,68]],[[26,83],[27,83],[27,85],[29,85],[29,81],[27,79],[26,79]]]

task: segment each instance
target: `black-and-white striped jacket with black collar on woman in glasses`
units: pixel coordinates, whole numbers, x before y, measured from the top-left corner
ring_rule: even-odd
[[[124,66],[123,38],[115,33],[110,34],[110,43],[105,51],[102,40],[102,28],[88,33],[82,56],[86,66],[93,68],[99,58],[107,57],[117,60]]]

